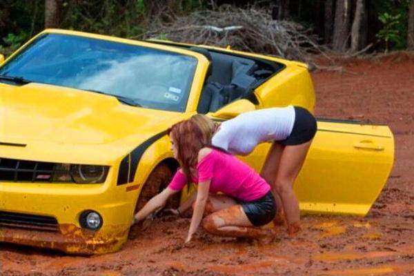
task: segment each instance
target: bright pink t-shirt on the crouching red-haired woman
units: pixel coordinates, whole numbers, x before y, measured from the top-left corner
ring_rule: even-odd
[[[220,150],[211,150],[197,164],[198,179],[195,184],[211,180],[210,193],[224,193],[243,201],[253,201],[268,193],[270,186],[247,164],[233,155]],[[186,176],[177,170],[168,188],[181,190],[186,185]]]

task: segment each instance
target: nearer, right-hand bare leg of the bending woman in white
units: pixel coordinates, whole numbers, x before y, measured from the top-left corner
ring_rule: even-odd
[[[299,203],[293,192],[293,182],[304,164],[306,154],[312,141],[296,146],[286,146],[282,152],[277,170],[275,187],[282,198],[282,204],[288,223],[288,232],[293,234],[299,228]]]

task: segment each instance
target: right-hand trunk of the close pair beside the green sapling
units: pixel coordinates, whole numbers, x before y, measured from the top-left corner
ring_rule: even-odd
[[[351,30],[351,50],[357,52],[366,46],[368,34],[368,17],[365,0],[357,0],[355,17]]]

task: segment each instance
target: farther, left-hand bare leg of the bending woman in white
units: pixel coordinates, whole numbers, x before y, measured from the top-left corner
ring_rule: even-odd
[[[279,194],[277,193],[275,186],[275,179],[277,170],[279,169],[279,162],[282,157],[282,152],[285,146],[274,142],[266,155],[266,160],[264,161],[262,172],[260,175],[266,180],[270,187],[272,188],[273,196],[275,197],[277,213],[275,219],[273,219],[273,224],[282,225],[284,222],[283,219],[283,210],[282,210],[282,199],[280,199]]]

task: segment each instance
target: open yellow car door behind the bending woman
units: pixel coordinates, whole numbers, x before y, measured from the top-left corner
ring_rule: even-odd
[[[260,144],[240,159],[260,172],[269,148],[270,143]],[[366,215],[384,188],[393,160],[388,126],[317,119],[317,133],[294,184],[300,209]]]

